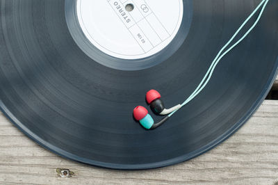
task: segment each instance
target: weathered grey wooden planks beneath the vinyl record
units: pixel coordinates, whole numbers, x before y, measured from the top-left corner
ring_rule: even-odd
[[[106,170],[63,159],[24,136],[1,114],[0,184],[278,184],[278,100],[265,100],[236,134],[206,154],[141,171]]]

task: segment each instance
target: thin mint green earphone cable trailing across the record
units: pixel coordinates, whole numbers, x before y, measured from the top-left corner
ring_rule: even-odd
[[[256,9],[252,12],[252,14],[247,17],[247,19],[245,19],[245,22],[243,22],[243,24],[240,26],[240,28],[236,31],[236,33],[234,33],[234,35],[231,37],[231,39],[227,42],[226,45],[224,45],[224,47],[222,47],[222,49],[219,51],[218,55],[215,57],[215,59],[213,60],[213,63],[211,63],[211,66],[209,67],[208,71],[206,72],[204,78],[202,79],[201,83],[199,83],[199,86],[194,90],[194,92],[190,95],[190,97],[188,97],[188,99],[186,99],[185,102],[183,102],[183,104],[181,104],[182,106],[185,106],[186,104],[188,104],[188,102],[190,102],[192,99],[194,99],[197,95],[199,95],[199,93],[201,93],[201,91],[206,87],[206,84],[208,83],[208,81],[210,81],[211,76],[215,70],[215,67],[218,65],[218,63],[220,62],[220,60],[227,54],[229,53],[229,51],[231,51],[232,49],[234,49],[234,47],[236,47],[240,42],[242,42],[246,36],[254,29],[254,27],[256,26],[256,24],[258,24],[259,20],[261,19],[261,15],[263,15],[263,11],[265,10],[265,6],[268,4],[269,0],[263,0],[261,1],[261,3],[259,4],[259,6],[256,7]],[[263,6],[263,8],[261,8],[261,6]],[[255,13],[259,10],[259,8],[261,8],[261,12],[259,13],[259,16],[256,19],[256,22],[254,22],[254,24],[251,26],[251,28],[245,33],[245,35],[243,35],[242,38],[240,38],[240,40],[238,40],[234,45],[232,45],[231,47],[229,47],[229,49],[227,49],[226,51],[224,51],[224,49],[226,49],[229,44],[231,44],[231,42],[234,40],[234,38],[236,38],[236,35],[238,35],[238,33],[243,29],[243,27],[245,26],[245,24],[247,24],[247,22],[250,21],[250,19],[255,15]],[[222,54],[222,51],[224,51],[224,53]],[[221,55],[222,54],[222,55]],[[221,55],[221,56],[220,56]],[[205,82],[204,82],[205,81]],[[171,115],[173,115],[174,113],[176,113],[178,110],[173,111],[172,113],[170,113],[168,115],[168,117],[170,117]]]

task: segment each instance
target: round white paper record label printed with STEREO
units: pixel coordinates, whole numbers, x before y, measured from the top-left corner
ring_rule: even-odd
[[[116,58],[139,59],[158,53],[174,39],[183,1],[77,0],[76,11],[92,45]]]

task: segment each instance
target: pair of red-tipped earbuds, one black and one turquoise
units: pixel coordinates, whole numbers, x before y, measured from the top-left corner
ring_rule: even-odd
[[[151,106],[152,111],[154,111],[157,115],[167,115],[181,108],[180,104],[173,106],[172,108],[165,108],[161,100],[161,94],[156,90],[149,90],[147,92],[146,99],[147,103]],[[165,118],[163,118],[160,122],[154,123],[154,119],[151,115],[149,115],[149,112],[144,106],[136,106],[136,108],[133,109],[133,116],[138,122],[140,122],[142,127],[148,130],[156,129],[168,118],[170,118],[169,116],[165,116]]]

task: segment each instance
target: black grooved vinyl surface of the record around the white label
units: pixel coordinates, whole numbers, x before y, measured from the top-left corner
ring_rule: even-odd
[[[259,1],[183,0],[170,44],[136,60],[109,56],[80,34],[78,1],[0,2],[1,110],[43,147],[81,163],[136,170],[192,159],[250,118],[277,73],[278,1],[270,0],[205,90],[146,131],[132,111],[147,106],[147,90],[159,90],[167,106],[181,103]]]

